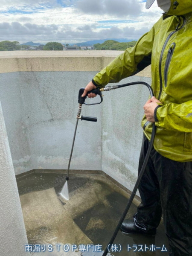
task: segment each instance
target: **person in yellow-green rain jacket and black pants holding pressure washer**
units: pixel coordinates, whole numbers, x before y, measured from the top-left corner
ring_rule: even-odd
[[[153,2],[147,0],[146,8]],[[96,74],[82,96],[151,64],[155,97],[144,106],[139,172],[153,122],[157,132],[139,186],[142,203],[121,230],[155,235],[163,212],[169,255],[192,256],[192,0],[157,0],[157,4],[162,17],[134,47]]]

